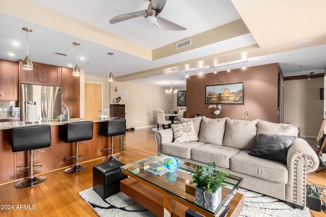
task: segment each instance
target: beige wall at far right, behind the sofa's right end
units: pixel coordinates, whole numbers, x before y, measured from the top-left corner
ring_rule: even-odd
[[[323,78],[289,80],[284,82],[284,122],[295,123],[301,128],[301,135],[317,137],[323,112],[320,88]]]

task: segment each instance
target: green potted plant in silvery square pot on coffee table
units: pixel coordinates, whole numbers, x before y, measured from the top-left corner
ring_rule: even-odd
[[[195,173],[192,183],[196,183],[196,203],[206,209],[214,211],[222,200],[222,186],[224,179],[229,175],[227,172],[216,170],[214,163],[209,163],[206,167],[190,165]]]

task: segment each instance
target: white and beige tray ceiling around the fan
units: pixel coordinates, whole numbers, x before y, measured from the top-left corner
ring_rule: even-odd
[[[75,46],[80,69],[86,75],[117,81],[135,81],[169,87],[185,86],[185,71],[195,75],[214,65],[218,71],[247,59],[247,67],[280,63],[285,76],[323,73],[326,66],[326,1],[323,0],[169,0],[160,17],[184,26],[184,31],[160,29],[137,17],[110,24],[120,14],[146,10],[147,0],[15,0],[0,2],[0,58],[23,59],[26,33],[32,61],[67,67],[75,64]],[[19,5],[19,7],[18,7]],[[27,10],[26,10],[27,9]],[[152,50],[192,38],[207,30],[242,19],[250,33],[206,43],[173,55],[152,60]],[[223,34],[223,33],[221,33]],[[313,41],[295,47],[301,41]],[[10,42],[20,42],[16,47]],[[68,54],[55,56],[54,52]],[[14,53],[10,57],[7,53]],[[242,64],[230,65],[240,68]],[[300,68],[300,66],[306,66]],[[145,78],[147,77],[147,78]]]

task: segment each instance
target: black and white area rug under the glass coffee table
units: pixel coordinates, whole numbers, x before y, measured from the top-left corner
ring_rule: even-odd
[[[244,207],[240,217],[309,217],[309,208],[294,209],[286,203],[269,196],[239,188],[239,193],[244,195]],[[128,216],[155,216],[146,208],[119,192],[103,200],[93,188],[79,192],[82,197],[100,217],[128,217]]]

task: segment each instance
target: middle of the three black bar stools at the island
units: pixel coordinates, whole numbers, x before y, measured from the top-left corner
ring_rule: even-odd
[[[59,138],[66,143],[75,143],[75,155],[65,160],[74,160],[75,165],[65,169],[65,173],[78,173],[87,170],[88,166],[79,164],[78,142],[93,138],[93,121],[70,122],[59,126]]]

